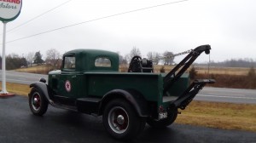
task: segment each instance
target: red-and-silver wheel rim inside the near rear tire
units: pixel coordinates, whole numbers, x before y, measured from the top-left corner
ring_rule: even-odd
[[[108,124],[113,132],[125,133],[129,127],[129,116],[125,109],[120,106],[113,107],[108,113]]]

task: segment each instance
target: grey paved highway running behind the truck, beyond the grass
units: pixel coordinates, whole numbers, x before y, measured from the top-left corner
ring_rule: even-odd
[[[48,79],[47,75],[32,74],[24,72],[6,72],[6,79],[9,83],[30,84],[39,81],[41,77]],[[0,80],[2,81],[2,72],[0,71]],[[207,100],[230,103],[256,104],[255,89],[224,89],[224,88],[207,88],[201,90],[195,96],[195,100]]]

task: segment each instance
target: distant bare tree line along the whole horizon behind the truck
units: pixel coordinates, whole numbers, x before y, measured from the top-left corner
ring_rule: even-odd
[[[119,52],[118,52],[119,54]],[[125,54],[125,56],[119,54],[119,64],[129,64],[132,57],[135,55],[142,56],[140,49],[137,47],[133,47],[129,54]],[[6,69],[14,70],[20,67],[27,66],[38,66],[42,64],[46,64],[52,67],[52,69],[60,69],[61,66],[61,54],[56,49],[49,49],[46,51],[46,58],[43,60],[43,54],[38,52],[30,52],[26,55],[18,55],[18,54],[9,54],[6,56]],[[162,58],[168,57],[168,58]],[[171,51],[166,51],[164,53],[159,52],[148,52],[147,58],[153,60],[154,65],[173,65],[174,57]],[[0,57],[2,60],[2,57]],[[224,60],[223,62],[214,62],[211,61],[211,66],[225,66],[225,67],[256,67],[256,61],[252,59],[231,59]],[[198,64],[196,64],[198,65]],[[203,65],[203,64],[199,64]],[[0,66],[2,67],[2,62],[0,62]]]

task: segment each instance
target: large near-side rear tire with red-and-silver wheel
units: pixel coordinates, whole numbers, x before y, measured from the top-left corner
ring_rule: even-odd
[[[103,112],[105,129],[115,139],[132,140],[145,127],[145,119],[139,117],[134,108],[125,100],[110,101]]]

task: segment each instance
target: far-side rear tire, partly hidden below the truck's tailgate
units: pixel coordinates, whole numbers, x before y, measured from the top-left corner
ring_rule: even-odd
[[[152,118],[148,118],[147,123],[149,126],[155,129],[165,129],[167,126],[171,125],[177,118],[177,109],[168,112],[168,117],[160,121],[155,121]]]

